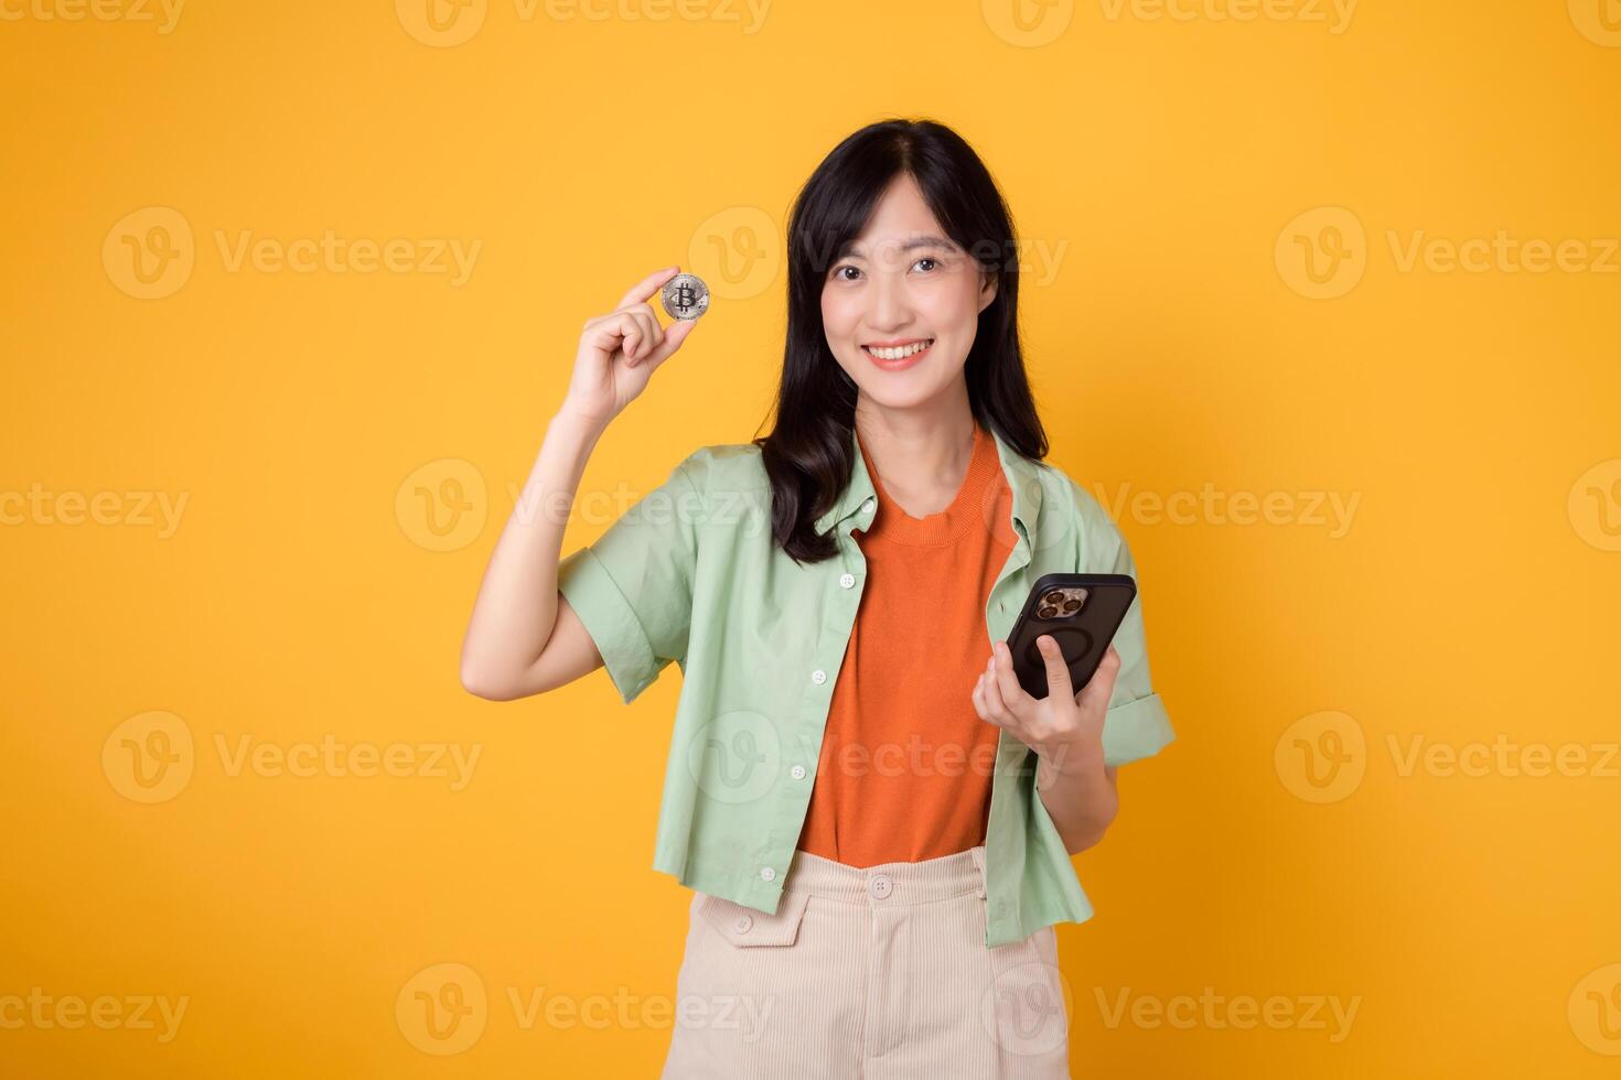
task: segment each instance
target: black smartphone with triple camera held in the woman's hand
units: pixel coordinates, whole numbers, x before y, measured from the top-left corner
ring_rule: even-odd
[[[1013,674],[1024,693],[1047,696],[1047,661],[1036,646],[1044,633],[1063,651],[1070,685],[1080,693],[1097,672],[1133,597],[1136,581],[1125,573],[1041,575],[1008,633]]]

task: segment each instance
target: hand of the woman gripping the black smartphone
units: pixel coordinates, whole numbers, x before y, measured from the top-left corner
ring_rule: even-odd
[[[1059,643],[1047,633],[1036,638],[1036,648],[1047,662],[1047,696],[1041,699],[1024,693],[1020,685],[1007,641],[997,641],[990,648],[990,661],[979,674],[973,693],[979,719],[1007,729],[1034,750],[1049,769],[1063,771],[1063,759],[1070,755],[1101,758],[1104,716],[1120,672],[1115,648],[1109,646],[1097,664],[1097,674],[1075,693]]]

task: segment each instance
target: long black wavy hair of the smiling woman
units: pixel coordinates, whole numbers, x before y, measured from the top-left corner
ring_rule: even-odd
[[[856,382],[822,329],[822,287],[835,256],[866,228],[879,198],[911,173],[945,233],[997,277],[979,313],[963,376],[974,421],[1031,460],[1047,457],[1047,432],[1018,343],[1018,246],[1002,193],[979,155],[934,120],[883,120],[848,136],[822,159],[788,219],[788,332],[775,426],[754,439],[772,481],[772,533],[794,562],[838,552],[815,520],[849,484]]]

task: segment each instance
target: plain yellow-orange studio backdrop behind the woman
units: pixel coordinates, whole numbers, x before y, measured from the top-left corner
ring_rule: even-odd
[[[665,21],[490,0],[441,8],[434,40],[404,0],[196,0],[170,32],[3,0],[0,997],[188,1006],[167,1043],[0,1027],[0,1075],[657,1074],[668,1020],[525,1028],[509,993],[674,993],[691,894],[650,861],[679,675],[631,708],[601,672],[491,704],[459,644],[580,324],[673,262],[715,287],[592,457],[582,497],[613,512],[577,513],[564,554],[692,449],[763,431],[786,209],[888,115],[953,125],[1031,249],[1062,246],[1049,280],[1026,264],[1028,363],[1052,460],[1127,494],[1178,730],[1078,857],[1097,916],[1059,931],[1076,1075],[1615,1075],[1618,763],[1399,767],[1415,738],[1572,743],[1592,766],[1621,738],[1621,257],[1399,257],[1504,230],[1603,259],[1606,2],[1370,2],[1336,26],[1308,0],[1024,23],[780,0],[751,28],[720,0]],[[481,23],[447,45],[472,26],[452,16]],[[183,219],[193,267],[143,300],[118,253],[160,241],[120,227],[146,207]],[[481,248],[460,285],[219,248],[326,230]],[[1308,295],[1307,249],[1362,277]],[[1289,492],[1294,520],[1130,502],[1204,484]],[[47,510],[18,512],[31,489]],[[68,492],[113,494],[70,523]],[[185,497],[178,528],[130,492]],[[1303,492],[1357,497],[1349,528]],[[193,751],[144,803],[118,732],[151,735],[151,712]],[[1332,750],[1326,725],[1360,733],[1357,782],[1315,801],[1290,761]],[[232,774],[217,750],[326,735],[480,758],[452,790]],[[396,1018],[441,963],[488,994],[454,1054]],[[1339,1041],[1101,1006],[1206,988],[1360,1004]]]

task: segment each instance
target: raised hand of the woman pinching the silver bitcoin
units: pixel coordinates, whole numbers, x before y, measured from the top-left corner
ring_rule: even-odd
[[[653,369],[681,348],[697,321],[678,319],[665,330],[647,303],[679,272],[681,267],[673,266],[648,274],[631,287],[618,308],[585,321],[564,411],[606,427],[647,389]]]

